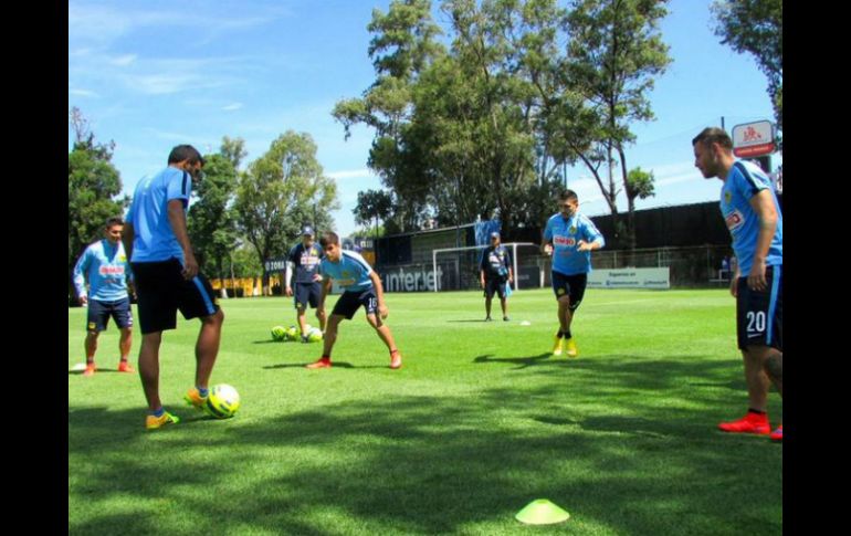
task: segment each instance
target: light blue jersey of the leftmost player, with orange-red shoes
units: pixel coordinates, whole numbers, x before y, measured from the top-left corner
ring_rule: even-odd
[[[77,296],[88,296],[88,299],[98,302],[126,299],[128,276],[132,277],[130,263],[124,252],[124,244],[118,242],[113,245],[105,239],[86,248],[74,265]]]

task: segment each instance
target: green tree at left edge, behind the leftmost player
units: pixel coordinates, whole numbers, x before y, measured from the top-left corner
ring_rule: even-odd
[[[95,141],[80,108],[71,109],[69,120],[75,140],[69,153],[69,293],[73,294],[73,270],[86,245],[103,233],[107,218],[123,216],[128,200],[115,199],[122,179],[112,162],[114,143]]]

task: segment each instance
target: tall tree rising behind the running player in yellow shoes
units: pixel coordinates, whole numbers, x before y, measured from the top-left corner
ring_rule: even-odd
[[[635,248],[634,199],[631,196],[626,147],[634,143],[630,125],[654,118],[647,94],[654,77],[671,62],[659,32],[668,0],[574,0],[567,19],[567,67],[571,83],[599,117],[590,126],[592,145],[580,159],[593,174],[612,214],[617,197],[627,192],[627,243]],[[614,160],[617,153],[618,161]],[[602,157],[602,158],[601,158]],[[606,165],[608,180],[599,174]],[[614,170],[620,168],[620,187]]]

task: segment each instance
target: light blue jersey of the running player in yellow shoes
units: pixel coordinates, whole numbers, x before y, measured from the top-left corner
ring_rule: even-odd
[[[606,245],[597,225],[578,212],[569,220],[565,220],[560,212],[551,216],[544,229],[544,240],[553,241],[553,271],[561,275],[585,274],[591,271],[591,252],[576,251],[580,240],[599,242],[600,248]]]

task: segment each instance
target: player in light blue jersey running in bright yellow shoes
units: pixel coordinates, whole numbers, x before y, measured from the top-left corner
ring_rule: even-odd
[[[579,213],[579,197],[572,190],[558,196],[560,212],[547,220],[544,229],[544,253],[553,255],[553,292],[558,299],[559,328],[553,355],[565,350],[568,357],[579,355],[570,324],[585,296],[588,272],[591,271],[591,251],[606,245],[606,240],[593,222]]]

